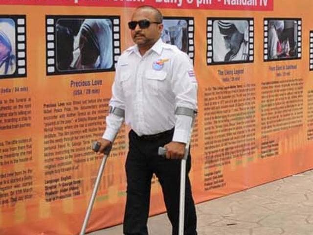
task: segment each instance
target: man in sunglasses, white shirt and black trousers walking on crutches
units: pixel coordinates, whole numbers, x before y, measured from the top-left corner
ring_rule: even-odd
[[[162,15],[154,7],[141,6],[129,22],[133,47],[116,66],[112,86],[111,111],[100,141],[99,153],[109,147],[118,132],[125,111],[129,133],[126,160],[127,202],[125,235],[147,235],[151,179],[156,174],[163,190],[172,234],[178,235],[180,160],[191,129],[192,117],[175,114],[178,107],[197,109],[197,81],[187,54],[160,39]],[[174,128],[175,127],[175,128]],[[167,149],[158,156],[159,146]],[[186,163],[185,235],[197,235],[196,211]]]

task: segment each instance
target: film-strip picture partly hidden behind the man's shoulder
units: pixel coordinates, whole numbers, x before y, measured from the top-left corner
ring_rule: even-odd
[[[163,17],[164,28],[171,29],[170,34],[179,33],[182,31],[181,42],[178,42],[180,49],[188,54],[189,58],[194,61],[195,58],[195,21],[193,17]],[[176,32],[175,32],[176,29]],[[164,41],[164,40],[163,40]],[[171,38],[172,45],[175,45],[175,39]],[[179,45],[176,45],[179,47]]]

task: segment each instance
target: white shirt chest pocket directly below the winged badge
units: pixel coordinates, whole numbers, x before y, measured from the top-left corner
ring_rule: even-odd
[[[166,76],[166,71],[147,70],[145,77],[148,91],[154,95],[160,94],[160,91],[166,89]]]

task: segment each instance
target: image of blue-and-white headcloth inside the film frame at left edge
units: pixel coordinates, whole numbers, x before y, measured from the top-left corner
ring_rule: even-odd
[[[12,19],[0,19],[0,76],[15,70],[15,23]]]

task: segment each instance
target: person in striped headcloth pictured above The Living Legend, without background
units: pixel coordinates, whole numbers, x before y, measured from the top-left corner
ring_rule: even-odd
[[[228,50],[224,61],[246,61],[249,59],[247,21],[218,21],[220,33]]]

